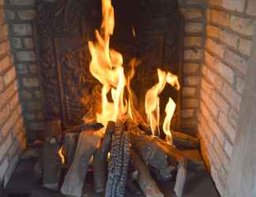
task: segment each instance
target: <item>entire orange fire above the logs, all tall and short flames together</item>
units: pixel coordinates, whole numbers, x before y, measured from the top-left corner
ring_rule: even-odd
[[[115,28],[114,8],[111,0],[102,0],[101,31],[96,30],[96,41],[88,42],[92,61],[89,69],[92,76],[102,84],[101,90],[101,112],[96,114],[96,121],[107,125],[108,121],[117,121],[125,114],[128,114],[134,121],[140,118],[140,115],[134,108],[136,97],[130,88],[130,81],[135,72],[138,61],[134,58],[130,61],[130,73],[125,76],[122,66],[122,54],[110,48],[110,39]],[[133,35],[136,37],[134,27],[132,27]],[[166,84],[170,84],[179,90],[178,77],[171,72],[164,72],[157,69],[159,82],[154,85],[145,95],[145,113],[147,115],[149,125],[154,135],[159,131],[160,121],[160,93],[164,90]],[[124,92],[127,90],[126,98]],[[109,100],[111,96],[111,101]],[[164,132],[171,139],[171,117],[175,112],[175,102],[170,98],[166,106],[166,118],[164,120]]]

